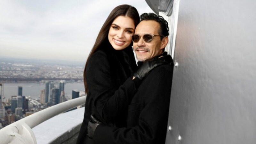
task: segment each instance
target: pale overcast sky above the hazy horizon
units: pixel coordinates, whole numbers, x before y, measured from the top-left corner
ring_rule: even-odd
[[[145,0],[1,0],[0,57],[85,61],[110,11]]]

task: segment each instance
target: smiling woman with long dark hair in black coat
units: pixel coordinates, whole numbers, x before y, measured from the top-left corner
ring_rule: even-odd
[[[103,24],[84,68],[87,97],[77,144],[92,143],[86,135],[90,115],[110,126],[126,126],[128,104],[140,84],[132,79],[137,65],[131,43],[139,21],[134,7],[119,5]]]

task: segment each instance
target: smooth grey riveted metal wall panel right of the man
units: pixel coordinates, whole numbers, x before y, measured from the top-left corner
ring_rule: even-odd
[[[255,0],[180,0],[166,143],[256,143],[255,13]]]

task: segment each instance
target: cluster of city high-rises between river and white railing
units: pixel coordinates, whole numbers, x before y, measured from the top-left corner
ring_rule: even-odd
[[[46,86],[46,83],[48,83],[48,81],[45,82],[45,86]],[[70,90],[70,88],[72,89],[72,94],[66,95],[64,93],[65,81],[59,81],[59,82],[52,81],[51,85],[53,85],[53,86],[50,90],[52,92],[51,92],[51,94],[49,93],[50,101],[48,101],[48,102],[46,102],[44,100],[45,89],[40,90],[42,98],[41,97],[32,98],[28,95],[22,94],[22,91],[21,91],[23,89],[22,86],[16,86],[16,88],[18,88],[18,89],[13,90],[13,91],[16,91],[17,92],[16,94],[18,94],[18,95],[12,95],[11,97],[8,97],[8,98],[4,97],[3,98],[4,100],[2,100],[1,99],[1,97],[3,96],[2,91],[4,91],[4,90],[2,90],[3,84],[4,83],[0,83],[0,129],[3,128],[4,126],[7,126],[7,125],[17,121],[17,120],[27,117],[28,115],[31,115],[38,111],[41,111],[49,106],[65,102],[71,98],[74,99],[74,98],[85,95],[84,90],[77,91],[76,86],[71,88],[71,87],[69,87],[70,85],[68,86],[68,88],[69,88],[69,90]],[[19,83],[19,84],[21,84],[21,83]],[[50,85],[48,84],[47,87],[50,89],[51,86],[50,87],[49,86]],[[61,96],[59,96],[59,90],[61,90]],[[74,91],[76,91],[76,97],[73,96]]]

